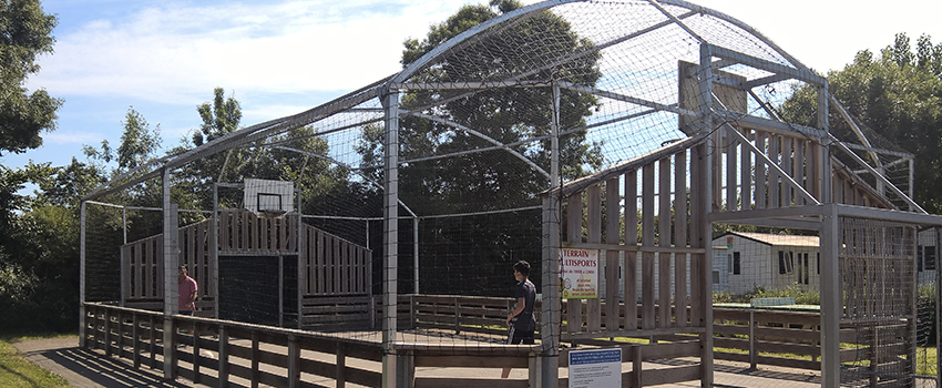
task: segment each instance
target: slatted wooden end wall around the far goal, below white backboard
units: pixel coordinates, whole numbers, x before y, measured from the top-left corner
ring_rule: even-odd
[[[216,295],[211,236],[213,218],[178,228],[178,263],[199,284],[197,307],[212,310]],[[303,224],[298,249],[297,217],[260,218],[249,212],[222,211],[218,256],[297,255],[306,310],[342,310],[356,305],[368,312],[371,296],[372,252],[339,236]],[[160,309],[163,305],[163,234],[121,247],[122,298],[135,307]],[[351,296],[358,298],[351,299]],[[337,297],[338,299],[329,299]],[[362,299],[362,300],[360,300]],[[327,304],[327,305],[325,305]],[[320,306],[320,307],[317,307]],[[338,307],[340,306],[340,307]],[[349,308],[347,308],[349,309]]]

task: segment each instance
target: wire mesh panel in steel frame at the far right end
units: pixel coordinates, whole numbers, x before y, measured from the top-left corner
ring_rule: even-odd
[[[848,387],[912,386],[917,360],[915,225],[840,218],[841,325],[857,333]]]

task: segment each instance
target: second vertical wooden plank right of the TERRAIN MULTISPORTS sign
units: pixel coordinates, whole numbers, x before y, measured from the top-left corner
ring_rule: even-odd
[[[638,243],[637,185],[637,171],[625,174],[625,245],[628,246]],[[637,257],[635,252],[625,252],[622,277],[625,279],[625,329],[628,330],[637,328]]]

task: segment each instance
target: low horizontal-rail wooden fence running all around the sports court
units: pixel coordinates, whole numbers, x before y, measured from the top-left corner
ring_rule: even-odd
[[[504,319],[513,306],[508,298],[468,296],[401,295],[399,300],[400,329],[483,335],[494,343],[505,335]],[[373,302],[372,308],[376,309],[375,317],[382,316],[379,303]],[[748,363],[754,368],[777,366],[820,370],[818,313],[715,308],[714,317],[716,359]],[[335,379],[337,387],[342,387],[344,381],[366,386],[380,384],[381,368],[376,363],[381,361],[382,349],[377,341],[199,317],[172,316],[164,320],[161,313],[101,304],[85,305],[86,346],[104,349],[109,356],[126,358],[135,368],[149,366],[160,369],[164,367],[164,325],[167,321],[177,329],[196,334],[195,337],[177,334],[171,340],[171,346],[176,349],[176,358],[172,360],[174,370],[195,382],[218,386],[222,380],[234,386],[245,381],[306,386],[308,382],[298,380],[298,374],[294,372],[303,370],[305,376]],[[902,333],[904,325],[899,323],[897,329]],[[888,325],[881,329],[893,330],[893,327]],[[853,345],[841,350],[841,363],[866,364],[872,357],[877,345],[870,343],[874,340],[872,336],[849,325],[842,327],[840,336],[841,343]],[[194,338],[197,340],[194,341]],[[625,387],[698,378],[700,371],[697,365],[649,370],[642,367],[642,363],[647,361],[698,357],[700,341],[696,336],[664,334],[642,340],[649,339],[654,341],[626,343],[604,336],[570,338],[581,346],[621,347],[623,363],[632,365],[631,371],[623,375]],[[177,349],[177,344],[190,347]],[[414,368],[533,368],[532,360],[536,356],[529,347],[400,344],[398,348]],[[570,348],[562,350],[560,367],[567,366]],[[211,350],[218,356],[207,356],[201,350]],[[231,363],[223,363],[227,359]],[[495,371],[494,376],[498,375]],[[290,380],[290,376],[295,376],[295,380]],[[566,385],[567,381],[561,379],[560,386]],[[522,380],[414,378],[414,387],[526,386],[526,381]]]

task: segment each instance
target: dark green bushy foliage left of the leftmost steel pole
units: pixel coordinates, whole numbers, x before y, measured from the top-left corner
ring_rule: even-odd
[[[0,170],[0,330],[72,330],[79,308],[80,197],[104,182],[76,162]],[[25,183],[33,195],[19,194]]]

